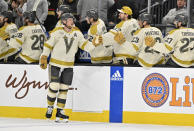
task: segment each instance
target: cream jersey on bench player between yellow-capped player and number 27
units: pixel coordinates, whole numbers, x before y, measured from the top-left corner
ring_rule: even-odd
[[[162,53],[153,49],[153,46],[145,42],[146,37],[155,40],[155,44],[163,45],[163,37],[161,31],[156,27],[142,28],[135,32],[132,47],[136,52],[130,50],[131,55],[137,56],[137,60],[142,67],[152,67],[156,64],[162,64],[164,58]]]

